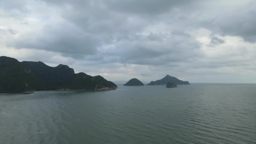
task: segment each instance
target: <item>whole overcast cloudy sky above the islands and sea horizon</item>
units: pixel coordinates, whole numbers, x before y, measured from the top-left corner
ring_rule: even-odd
[[[256,83],[256,0],[0,0],[0,55],[112,81]]]

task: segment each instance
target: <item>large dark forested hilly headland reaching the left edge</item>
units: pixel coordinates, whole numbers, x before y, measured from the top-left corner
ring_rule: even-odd
[[[101,77],[59,64],[50,67],[43,62],[18,61],[0,56],[0,93],[32,93],[48,90],[115,90],[117,85]]]

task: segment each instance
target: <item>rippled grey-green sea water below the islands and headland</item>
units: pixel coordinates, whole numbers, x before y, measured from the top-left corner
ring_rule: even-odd
[[[0,94],[0,144],[256,144],[256,84]]]

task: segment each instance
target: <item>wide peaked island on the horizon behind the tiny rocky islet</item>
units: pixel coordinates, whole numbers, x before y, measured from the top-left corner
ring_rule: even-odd
[[[167,83],[174,83],[176,85],[189,85],[188,81],[179,80],[176,77],[172,77],[170,75],[166,75],[161,80],[151,81],[147,85],[166,85]]]

